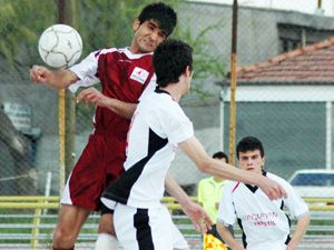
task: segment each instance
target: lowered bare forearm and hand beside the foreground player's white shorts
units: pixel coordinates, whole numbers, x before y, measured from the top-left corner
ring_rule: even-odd
[[[174,178],[167,173],[165,186],[167,192],[177,199],[178,203],[181,206],[183,211],[190,218],[195,229],[205,233],[207,230],[212,229],[214,223],[210,217],[205,212],[205,210],[191,201],[188,194],[179,187],[179,184],[174,180]]]

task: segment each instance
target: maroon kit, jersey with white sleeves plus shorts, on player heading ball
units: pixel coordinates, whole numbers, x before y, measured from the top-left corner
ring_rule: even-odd
[[[138,103],[144,90],[150,92],[156,86],[151,57],[116,48],[92,52],[70,68],[80,79],[70,90],[101,82],[105,96]],[[97,108],[95,131],[70,174],[61,203],[100,208],[102,191],[124,172],[129,124],[130,120],[109,109]]]

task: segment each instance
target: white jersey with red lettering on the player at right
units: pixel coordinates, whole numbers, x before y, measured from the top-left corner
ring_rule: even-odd
[[[287,198],[269,200],[256,186],[227,181],[217,220],[225,226],[234,224],[237,220],[247,250],[283,250],[289,241],[291,227],[289,218],[283,208],[295,218],[307,213],[308,208],[285,180],[265,171],[263,174],[278,182],[286,191]]]

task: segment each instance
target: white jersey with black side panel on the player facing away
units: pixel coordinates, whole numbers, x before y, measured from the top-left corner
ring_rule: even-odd
[[[125,172],[107,188],[102,202],[111,209],[108,200],[135,208],[160,207],[177,144],[193,136],[193,123],[168,92],[157,89],[145,94],[128,132]]]

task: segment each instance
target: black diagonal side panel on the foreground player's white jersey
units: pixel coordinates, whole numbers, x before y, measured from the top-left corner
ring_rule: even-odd
[[[135,163],[132,167],[130,167],[119,177],[119,179],[111,183],[104,192],[102,197],[127,204],[131,188],[140,177],[146,163],[158,150],[163,149],[167,143],[167,138],[160,138],[151,129],[149,129],[147,156]]]

